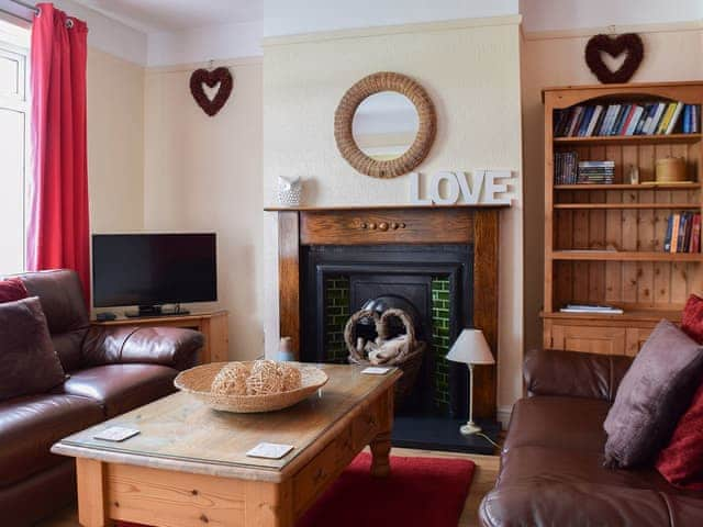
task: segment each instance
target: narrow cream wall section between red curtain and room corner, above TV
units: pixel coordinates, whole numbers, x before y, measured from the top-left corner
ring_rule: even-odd
[[[144,68],[88,52],[88,186],[94,233],[144,225]]]

